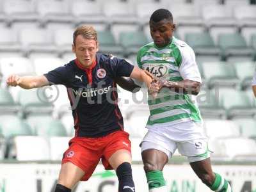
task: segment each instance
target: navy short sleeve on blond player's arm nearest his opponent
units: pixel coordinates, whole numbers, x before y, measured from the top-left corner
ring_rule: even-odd
[[[111,69],[113,70],[113,77],[130,77],[134,65],[128,61],[111,56],[109,58]]]

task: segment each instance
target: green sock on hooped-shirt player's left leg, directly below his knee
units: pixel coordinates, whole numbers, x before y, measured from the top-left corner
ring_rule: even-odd
[[[165,180],[163,177],[163,172],[161,171],[152,171],[146,173],[148,189],[161,188],[165,186]]]

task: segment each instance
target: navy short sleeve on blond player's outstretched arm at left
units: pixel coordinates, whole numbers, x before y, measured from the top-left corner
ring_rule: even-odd
[[[67,67],[62,66],[49,71],[44,76],[50,82],[50,84],[63,84],[67,85]]]

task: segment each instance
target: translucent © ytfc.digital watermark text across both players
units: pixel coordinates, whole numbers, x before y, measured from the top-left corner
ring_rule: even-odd
[[[53,104],[60,97],[60,86],[51,83],[51,86],[44,86],[37,89],[37,97],[41,102],[45,104]],[[135,93],[136,92],[136,93]],[[156,98],[148,93],[148,90],[141,88],[133,93],[121,92],[120,89],[113,86],[113,84],[106,84],[104,81],[100,81],[97,87],[90,85],[80,88],[67,88],[68,99],[70,101],[69,109],[76,109],[78,103],[83,100],[84,104],[102,104],[108,102],[109,104],[156,104],[161,102],[167,102],[168,100],[188,100],[189,102],[196,102],[201,105],[216,105],[220,104],[219,98],[220,87],[216,86],[212,90],[201,89],[198,95],[191,91],[184,92],[184,89],[179,90],[175,88],[163,88],[161,92],[157,93]],[[61,95],[61,97],[67,97]]]

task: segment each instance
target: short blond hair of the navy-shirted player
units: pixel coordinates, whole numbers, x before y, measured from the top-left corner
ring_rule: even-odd
[[[93,26],[79,26],[76,28],[76,31],[73,33],[73,44],[76,45],[76,38],[78,35],[82,35],[83,38],[93,39],[96,42],[98,41],[97,31],[93,28]]]

